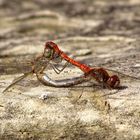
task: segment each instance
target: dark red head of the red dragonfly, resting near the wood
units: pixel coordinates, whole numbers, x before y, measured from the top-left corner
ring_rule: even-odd
[[[120,85],[120,79],[117,75],[112,75],[108,78],[107,84],[112,88],[117,88]]]

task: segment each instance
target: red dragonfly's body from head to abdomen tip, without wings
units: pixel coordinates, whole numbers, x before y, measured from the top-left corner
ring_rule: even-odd
[[[85,73],[85,76],[94,77],[98,82],[106,83],[111,88],[116,88],[119,86],[119,77],[117,75],[109,76],[108,72],[104,68],[91,68],[85,64],[81,64],[80,62],[75,61],[74,59],[68,57],[63,51],[61,51],[59,47],[52,41],[46,43],[45,49],[48,48],[53,49],[54,53],[56,53],[72,65],[80,68]]]

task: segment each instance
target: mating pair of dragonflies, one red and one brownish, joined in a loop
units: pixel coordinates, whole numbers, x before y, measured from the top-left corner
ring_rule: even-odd
[[[62,69],[58,69],[54,64],[60,64],[62,60],[65,60],[66,63],[63,65]],[[44,72],[47,66],[50,65],[57,74],[60,74],[68,64],[78,67],[83,71],[83,74],[70,79],[53,80]],[[120,85],[120,79],[117,75],[110,76],[104,68],[92,68],[75,61],[61,51],[52,41],[46,42],[43,53],[36,57],[34,61],[31,62],[31,65],[32,70],[30,72],[24,73],[22,76],[16,78],[3,92],[6,92],[10,87],[31,74],[35,74],[37,79],[44,85],[53,87],[70,87],[92,79],[95,79],[103,87],[110,89],[118,88]]]

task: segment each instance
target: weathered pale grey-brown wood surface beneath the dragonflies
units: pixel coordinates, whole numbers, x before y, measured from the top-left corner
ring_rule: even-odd
[[[139,80],[120,76],[120,90],[59,89],[33,76],[2,93],[48,40],[83,63],[140,78],[139,36],[139,0],[0,0],[0,139],[140,139]]]

